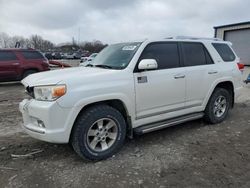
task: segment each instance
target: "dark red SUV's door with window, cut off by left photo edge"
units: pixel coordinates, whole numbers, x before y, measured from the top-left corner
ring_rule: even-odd
[[[13,51],[0,51],[0,81],[18,79],[19,61]]]

